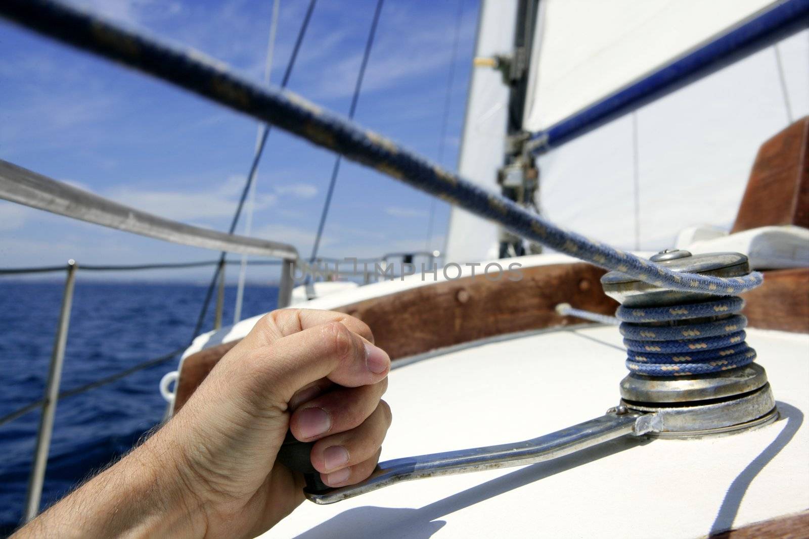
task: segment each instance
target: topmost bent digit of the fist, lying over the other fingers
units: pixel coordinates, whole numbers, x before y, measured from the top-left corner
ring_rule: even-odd
[[[375,384],[388,376],[391,364],[381,348],[334,321],[256,347],[241,361],[248,363],[256,394],[271,396],[284,406],[301,388],[321,378],[345,387]]]

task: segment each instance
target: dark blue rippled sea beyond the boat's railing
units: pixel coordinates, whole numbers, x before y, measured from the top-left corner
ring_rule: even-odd
[[[70,390],[188,342],[203,284],[99,283],[79,273],[61,390]],[[277,288],[248,286],[243,318],[273,310]],[[0,279],[0,416],[42,398],[62,285]],[[233,319],[235,286],[226,290],[224,321]],[[205,325],[213,325],[213,305]],[[125,453],[163,418],[158,382],[177,361],[147,368],[58,403],[43,507],[94,470]],[[22,516],[39,411],[0,425],[0,537]]]

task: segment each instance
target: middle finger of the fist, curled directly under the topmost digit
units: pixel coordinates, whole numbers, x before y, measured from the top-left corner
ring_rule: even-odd
[[[309,441],[358,427],[377,410],[379,398],[387,389],[388,378],[384,378],[373,385],[333,390],[320,395],[294,411],[290,418],[290,430],[298,440]]]

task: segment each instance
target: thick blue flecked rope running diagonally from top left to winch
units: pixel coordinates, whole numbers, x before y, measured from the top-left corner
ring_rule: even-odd
[[[672,272],[582,234],[561,229],[388,138],[324,111],[299,95],[267,89],[201,53],[176,48],[141,32],[118,27],[62,2],[4,0],[0,2],[0,14],[37,32],[120,61],[257,120],[274,124],[314,145],[336,151],[345,158],[371,166],[479,217],[495,221],[515,234],[597,266],[657,286],[715,295],[735,295],[756,288],[762,282],[758,272],[731,279]]]

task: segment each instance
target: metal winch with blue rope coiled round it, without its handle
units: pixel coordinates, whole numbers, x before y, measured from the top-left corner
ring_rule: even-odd
[[[673,249],[650,260],[683,273],[733,278],[750,272],[748,257],[739,253]],[[609,272],[601,283],[621,303],[617,317],[629,351],[621,405],[658,416],[650,436],[705,436],[777,419],[767,373],[752,362],[756,351],[744,340],[741,298],[672,291],[621,272]]]

